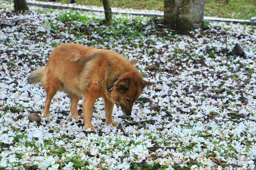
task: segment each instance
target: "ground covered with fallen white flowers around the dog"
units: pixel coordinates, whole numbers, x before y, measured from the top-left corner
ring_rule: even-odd
[[[0,3],[0,169],[255,169],[255,27],[205,23],[178,35],[162,19],[30,7],[13,13]],[[11,25],[6,25],[11,24]],[[103,100],[92,124],[70,114],[58,93],[39,123],[46,93],[29,85],[61,43],[117,51],[154,82],[135,102],[132,118],[116,104],[107,126]],[[234,49],[238,44],[245,54]],[[117,66],[118,67],[118,66]],[[153,108],[152,108],[153,106]]]

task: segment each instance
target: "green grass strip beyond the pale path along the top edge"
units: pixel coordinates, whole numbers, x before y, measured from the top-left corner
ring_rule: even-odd
[[[66,4],[69,3],[70,0],[57,0],[56,2]],[[76,0],[76,3],[89,6],[103,6],[102,1],[100,0]],[[119,0],[110,1],[110,5],[111,7],[116,8],[164,10],[163,0]],[[255,0],[230,0],[228,4],[225,4],[223,0],[206,0],[205,16],[230,19],[250,19],[256,16],[255,7]]]

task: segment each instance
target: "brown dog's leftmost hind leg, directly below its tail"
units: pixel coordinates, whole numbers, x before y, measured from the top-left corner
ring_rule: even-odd
[[[46,82],[44,82],[42,84],[46,91],[44,117],[49,117],[50,116],[49,111],[50,111],[51,100],[58,91],[59,80],[54,76],[54,74],[51,72],[51,70],[48,70],[48,72],[46,74]]]

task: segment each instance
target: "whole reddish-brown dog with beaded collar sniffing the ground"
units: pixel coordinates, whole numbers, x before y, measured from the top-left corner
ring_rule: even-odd
[[[80,120],[77,104],[83,99],[84,126],[94,129],[91,121],[96,99],[104,98],[106,123],[112,119],[114,103],[119,103],[126,115],[131,115],[133,103],[143,88],[153,83],[143,80],[133,64],[111,50],[89,48],[79,44],[61,44],[51,53],[47,66],[33,71],[29,84],[41,83],[46,90],[44,117],[49,117],[51,100],[57,91],[71,99],[71,114]]]

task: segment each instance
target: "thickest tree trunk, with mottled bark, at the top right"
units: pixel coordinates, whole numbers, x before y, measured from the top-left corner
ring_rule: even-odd
[[[164,0],[164,24],[180,34],[204,25],[205,0]]]

